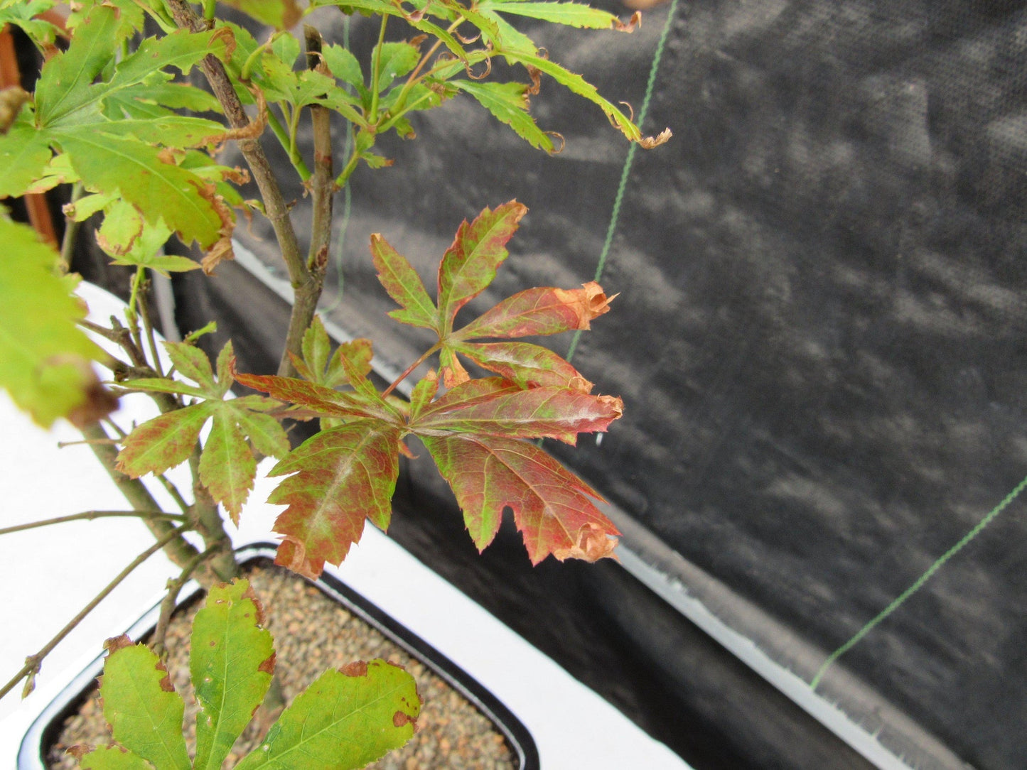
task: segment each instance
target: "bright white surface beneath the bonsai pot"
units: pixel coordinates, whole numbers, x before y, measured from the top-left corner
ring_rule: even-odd
[[[82,294],[97,316],[116,312],[109,295],[91,286]],[[123,403],[122,420],[142,421],[155,414],[146,396]],[[58,441],[79,437],[70,426],[43,431],[0,393],[0,526],[126,507],[113,484],[98,472],[87,448],[56,448]],[[241,529],[231,533],[236,544],[273,539],[271,524],[281,506],[262,502],[270,489],[268,479],[258,478]],[[42,647],[151,543],[149,532],[135,519],[98,519],[0,537],[0,681],[10,679],[26,655]],[[374,528],[368,526],[343,567],[332,571],[503,701],[532,733],[545,770],[687,768],[662,743]],[[0,768],[14,767],[22,735],[64,683],[100,652],[105,639],[120,633],[157,601],[165,580],[177,573],[162,554],[153,556],[51,653],[35,693],[25,701],[16,694],[0,700]]]

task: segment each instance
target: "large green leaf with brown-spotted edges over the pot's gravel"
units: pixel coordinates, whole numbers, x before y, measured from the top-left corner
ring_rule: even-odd
[[[196,754],[183,737],[185,703],[160,658],[125,636],[108,640],[100,688],[115,743],[74,746],[83,770],[216,770],[264,701],[274,671],[271,634],[246,580],[214,586],[193,620],[189,671],[200,710]],[[406,743],[421,701],[402,667],[383,660],[329,669],[236,765],[306,770],[359,768]],[[359,736],[354,740],[353,736]]]

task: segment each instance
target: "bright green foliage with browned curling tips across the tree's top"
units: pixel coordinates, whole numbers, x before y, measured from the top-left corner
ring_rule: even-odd
[[[227,3],[274,28],[258,41],[242,27],[217,18],[214,2],[204,4],[208,14],[202,29],[183,28],[175,17],[176,4],[82,0],[74,4],[65,31],[40,16],[54,7],[53,0],[0,0],[0,26],[20,27],[46,52],[31,98],[21,89],[0,94],[0,198],[74,184],[69,220],[81,222],[102,214],[97,239],[115,264],[162,273],[195,269],[193,260],[163,254],[162,244],[173,234],[206,252],[202,266],[207,271],[231,258],[236,210],[249,217],[253,209],[263,210],[264,203],[244,199],[240,185],[249,182],[246,171],[219,164],[211,151],[227,141],[258,139],[269,126],[300,178],[309,182],[307,160],[296,147],[304,110],[335,112],[352,131],[352,152],[335,180],[337,186],[346,183],[359,162],[373,167],[391,163],[375,152],[379,136],[394,130],[413,137],[413,113],[460,93],[532,146],[557,151],[559,134],[540,128],[529,112],[530,97],[543,76],[595,103],[631,141],[648,147],[665,140],[663,134],[644,138],[619,108],[581,76],[550,61],[510,21],[530,17],[630,32],[638,14],[622,23],[582,3],[533,0],[312,0],[306,7],[296,0]],[[309,49],[305,66],[301,64],[300,42],[290,30],[326,6],[380,18],[381,39],[367,61],[327,42]],[[389,21],[410,28],[412,36],[386,41]],[[144,36],[153,26],[161,33]],[[62,36],[70,36],[63,51],[55,46]],[[520,68],[524,81],[488,79],[496,56]],[[238,99],[256,106],[248,126],[226,125],[222,101],[184,80],[194,68],[212,62],[220,63]],[[288,262],[289,248],[283,245],[282,251]],[[20,291],[33,306],[48,301],[45,290],[37,291],[35,284]],[[447,376],[457,372],[453,354],[458,347],[479,363],[491,354],[455,338],[451,343],[443,350]],[[26,370],[17,360],[21,374],[0,369],[0,384],[12,392],[24,389],[17,380],[25,378]],[[75,379],[67,374],[62,378]],[[86,385],[79,380],[75,395],[54,395],[44,412],[67,415],[73,401],[88,401]],[[50,396],[44,393],[41,398]],[[37,419],[51,421],[42,412]]]

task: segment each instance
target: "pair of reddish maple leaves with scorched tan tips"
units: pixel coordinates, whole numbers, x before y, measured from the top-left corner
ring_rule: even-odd
[[[283,539],[279,564],[316,576],[326,562],[342,562],[365,518],[386,529],[400,457],[410,455],[408,436],[420,439],[453,489],[479,549],[492,542],[509,507],[534,564],[550,553],[596,561],[612,552],[618,533],[596,507],[599,495],[527,439],[573,445],[578,433],[606,430],[620,417],[620,399],[593,395],[592,383],[538,345],[473,342],[587,329],[608,309],[602,288],[528,290],[454,330],[457,312],[494,279],[525,211],[510,201],[465,221],[440,263],[434,302],[406,258],[381,236],[372,239],[379,278],[401,306],[392,316],[439,336],[408,373],[438,352],[444,393],[430,372],[414,386],[409,405],[386,398],[391,388],[379,392],[368,378],[371,343],[342,345],[329,360],[319,323],[297,361],[307,379],[236,375],[333,421],[270,471],[288,475],[268,500],[289,506],[275,522]],[[472,379],[461,357],[497,376]],[[339,385],[346,389],[334,389]]]

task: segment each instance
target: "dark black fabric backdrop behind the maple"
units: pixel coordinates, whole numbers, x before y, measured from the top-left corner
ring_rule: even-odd
[[[758,607],[765,633],[747,633],[789,665],[776,629],[826,656],[1027,472],[1027,10],[674,9],[643,128],[675,137],[635,155],[602,275],[620,297],[574,358],[625,415],[601,445],[549,449]],[[638,110],[670,10],[647,11],[633,35],[524,28]],[[340,41],[341,14],[326,18]],[[354,49],[376,35],[354,18]],[[421,338],[384,316],[372,232],[432,285],[460,220],[516,197],[530,213],[511,257],[465,312],[594,277],[627,147],[553,81],[533,112],[566,138],[563,153],[531,150],[461,97],[415,116],[416,141],[381,143],[392,167],[353,177],[336,255],[344,304],[326,316],[370,336],[384,367],[405,368]],[[282,274],[265,222],[238,236]],[[263,284],[231,265],[177,281],[185,330],[224,303],[222,334],[250,351],[240,369],[273,369],[286,309]],[[200,283],[212,303],[187,304]],[[337,268],[329,283],[327,307]],[[549,343],[565,353],[570,340]],[[696,768],[866,766],[617,565],[532,569],[509,523],[478,556],[421,455],[390,534]],[[1021,768],[1027,748],[1024,529],[1015,503],[838,664],[978,768]],[[895,742],[893,724],[850,716]]]

